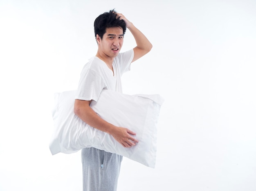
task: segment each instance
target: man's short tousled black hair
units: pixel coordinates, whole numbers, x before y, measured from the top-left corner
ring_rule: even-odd
[[[124,22],[124,20],[120,20],[120,18],[116,18],[116,17],[117,17],[117,13],[115,9],[99,15],[99,17],[97,17],[94,21],[95,38],[96,38],[96,35],[99,35],[99,37],[102,38],[103,35],[106,33],[106,29],[110,27],[119,27],[123,29],[123,34],[125,34],[126,23]]]

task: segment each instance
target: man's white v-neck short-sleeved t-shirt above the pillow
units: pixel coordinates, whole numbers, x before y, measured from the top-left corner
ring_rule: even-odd
[[[98,57],[92,57],[83,67],[75,99],[97,101],[103,89],[122,92],[121,75],[130,70],[133,50],[119,53],[113,60],[113,70]]]

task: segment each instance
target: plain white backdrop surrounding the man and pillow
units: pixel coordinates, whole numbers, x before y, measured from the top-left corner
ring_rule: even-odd
[[[255,191],[255,0],[1,0],[0,191],[82,190],[80,151],[49,151],[53,94],[77,88],[114,8],[153,44],[124,93],[165,99],[155,169],[124,158],[118,190]]]

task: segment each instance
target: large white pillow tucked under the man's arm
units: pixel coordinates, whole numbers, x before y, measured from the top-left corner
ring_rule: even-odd
[[[156,125],[162,97],[158,94],[127,95],[102,90],[98,101],[91,102],[91,108],[102,119],[136,133],[135,138],[139,143],[126,148],[110,134],[91,127],[74,114],[75,94],[76,90],[54,94],[54,132],[49,144],[52,155],[59,152],[70,154],[82,148],[94,147],[125,156],[147,167],[155,167]]]

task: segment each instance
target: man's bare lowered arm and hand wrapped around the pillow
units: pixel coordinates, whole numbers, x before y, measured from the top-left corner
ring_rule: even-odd
[[[135,146],[138,143],[138,140],[131,136],[136,135],[135,132],[124,127],[117,127],[103,120],[92,110],[90,103],[91,101],[76,99],[74,113],[91,127],[112,135],[124,147]]]

